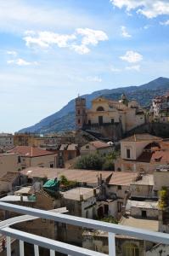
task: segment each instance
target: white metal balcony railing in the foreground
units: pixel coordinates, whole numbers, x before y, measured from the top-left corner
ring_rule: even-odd
[[[64,224],[73,224],[87,229],[103,230],[109,234],[109,255],[115,256],[115,234],[137,237],[142,240],[154,241],[169,245],[169,234],[153,232],[148,230],[135,229],[119,224],[109,224],[88,218],[79,218],[63,213],[48,212],[31,207],[20,207],[8,203],[0,203],[0,209],[18,212],[20,214],[29,214],[35,218],[47,218]],[[21,218],[21,217],[20,217]],[[106,256],[107,254],[98,253],[86,248],[76,247],[65,242],[54,241],[42,236],[32,235],[20,230],[9,227],[10,221],[0,222],[0,233],[7,236],[6,255],[11,256],[11,240],[17,239],[20,242],[20,256],[24,256],[24,242],[34,245],[34,255],[39,256],[39,247],[48,248],[50,256],[54,256],[55,252],[65,253],[71,256]]]

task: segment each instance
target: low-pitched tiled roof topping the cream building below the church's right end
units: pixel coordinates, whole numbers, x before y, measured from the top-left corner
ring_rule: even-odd
[[[154,140],[154,141],[160,141],[162,140],[161,137],[155,137],[149,133],[141,133],[141,134],[134,134],[131,137],[126,137],[122,142],[141,142],[141,141],[149,141],[149,140]]]

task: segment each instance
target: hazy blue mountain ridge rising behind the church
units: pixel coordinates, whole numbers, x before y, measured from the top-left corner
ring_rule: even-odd
[[[97,90],[91,94],[83,95],[82,97],[86,98],[87,108],[90,108],[91,101],[98,96],[117,100],[121,97],[122,93],[125,93],[130,100],[135,99],[141,106],[147,107],[155,96],[163,95],[168,90],[169,79],[161,77],[150,81],[148,84],[121,87],[111,90]],[[75,99],[68,102],[68,104],[58,112],[42,119],[36,125],[24,128],[19,132],[47,133],[54,131],[69,131],[73,129],[75,129]]]

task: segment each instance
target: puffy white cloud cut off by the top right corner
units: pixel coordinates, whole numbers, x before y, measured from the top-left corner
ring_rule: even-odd
[[[168,0],[110,0],[119,9],[126,8],[127,12],[136,9],[138,14],[147,18],[155,18],[158,15],[169,15]]]

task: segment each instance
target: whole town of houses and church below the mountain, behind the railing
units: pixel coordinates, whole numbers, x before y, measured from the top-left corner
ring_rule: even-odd
[[[0,204],[169,233],[169,95],[155,97],[149,109],[125,94],[98,96],[91,108],[78,96],[75,113],[76,131],[0,134]],[[0,210],[1,221],[16,230],[109,253],[106,231],[22,218]],[[0,241],[3,256],[6,237]],[[18,241],[10,242],[12,255],[19,255]],[[31,244],[25,247],[33,255]],[[169,246],[116,234],[115,252],[167,255]]]

